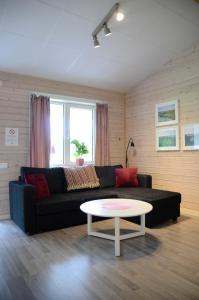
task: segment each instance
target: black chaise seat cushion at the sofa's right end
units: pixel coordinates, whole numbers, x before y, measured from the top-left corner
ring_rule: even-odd
[[[142,187],[106,188],[110,194],[116,193],[119,198],[129,198],[149,202],[153,207],[176,205],[181,202],[181,194],[176,192]]]

